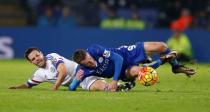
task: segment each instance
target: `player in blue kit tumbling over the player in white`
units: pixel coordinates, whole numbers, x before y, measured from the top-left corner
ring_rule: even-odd
[[[105,78],[113,77],[112,82],[107,84],[107,90],[116,91],[118,80],[135,80],[137,74],[126,73],[126,71],[144,63],[148,54],[151,53],[160,54],[160,58],[145,64],[146,66],[157,68],[165,62],[169,62],[173,73],[185,73],[187,76],[195,74],[193,69],[179,64],[176,60],[177,52],[171,51],[163,42],[137,42],[135,45],[119,48],[105,48],[94,44],[87,50],[78,49],[74,52],[73,59],[81,65],[81,70],[70,84],[69,89],[75,90],[80,81],[95,75]]]

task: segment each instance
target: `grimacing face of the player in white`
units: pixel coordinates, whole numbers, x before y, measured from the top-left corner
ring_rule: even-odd
[[[44,56],[41,52],[37,50],[33,50],[29,55],[28,58],[31,63],[38,67],[45,67],[46,61],[44,59]]]

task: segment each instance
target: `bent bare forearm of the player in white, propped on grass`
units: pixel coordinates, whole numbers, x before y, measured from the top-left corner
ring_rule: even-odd
[[[53,90],[57,90],[60,87],[67,73],[67,69],[64,64],[59,64],[57,70],[58,70],[58,78],[55,84],[53,85],[53,88],[52,88]]]

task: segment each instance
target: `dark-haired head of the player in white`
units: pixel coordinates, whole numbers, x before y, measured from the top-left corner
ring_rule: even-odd
[[[36,48],[31,47],[25,51],[25,58],[38,67],[45,67],[46,61],[42,52]]]

